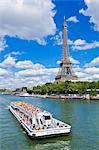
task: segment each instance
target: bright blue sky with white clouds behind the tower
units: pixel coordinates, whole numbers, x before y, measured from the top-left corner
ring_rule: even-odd
[[[99,80],[98,9],[98,0],[0,0],[0,88],[54,81],[64,16],[78,80]]]

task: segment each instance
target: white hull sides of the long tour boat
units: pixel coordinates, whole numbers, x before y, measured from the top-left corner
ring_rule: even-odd
[[[66,135],[71,132],[71,126],[65,124],[66,127],[62,128],[50,128],[50,129],[42,129],[42,130],[32,130],[23,120],[22,118],[9,106],[10,112],[16,117],[16,119],[20,122],[21,126],[26,130],[27,134],[33,138],[45,138],[45,137],[54,137],[60,135]],[[58,120],[59,121],[59,120]],[[61,121],[60,121],[61,122]],[[61,122],[62,123],[62,122]]]

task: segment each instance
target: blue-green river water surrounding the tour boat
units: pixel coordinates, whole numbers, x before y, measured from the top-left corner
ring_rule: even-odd
[[[32,140],[9,112],[12,101],[26,101],[72,126],[69,136]],[[99,101],[53,100],[0,95],[0,150],[99,150]]]

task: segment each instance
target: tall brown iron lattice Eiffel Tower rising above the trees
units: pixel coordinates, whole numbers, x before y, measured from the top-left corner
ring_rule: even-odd
[[[74,74],[72,70],[72,62],[70,61],[68,54],[68,46],[67,46],[67,24],[66,19],[64,18],[63,22],[63,56],[62,61],[60,63],[59,72],[55,78],[55,82],[58,83],[60,81],[68,81],[68,80],[77,80],[78,77]]]

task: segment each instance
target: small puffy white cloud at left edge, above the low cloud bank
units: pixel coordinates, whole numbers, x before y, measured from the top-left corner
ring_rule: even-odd
[[[7,67],[15,66],[15,61],[16,61],[15,58],[11,56],[7,56],[6,59],[0,63],[0,67],[7,68]]]

